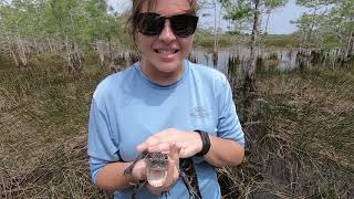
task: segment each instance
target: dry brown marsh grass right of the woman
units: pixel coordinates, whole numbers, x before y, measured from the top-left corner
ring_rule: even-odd
[[[260,114],[246,124],[246,161],[221,169],[227,198],[354,197],[354,70],[258,75]],[[231,186],[232,187],[232,186]]]

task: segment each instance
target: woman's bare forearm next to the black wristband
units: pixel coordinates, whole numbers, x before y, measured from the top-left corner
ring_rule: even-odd
[[[244,149],[235,140],[219,138],[209,135],[211,147],[204,157],[206,160],[215,166],[237,166],[241,164]]]

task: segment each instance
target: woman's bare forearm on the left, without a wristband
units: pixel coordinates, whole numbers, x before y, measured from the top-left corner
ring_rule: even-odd
[[[129,182],[136,181],[132,175],[124,176],[124,170],[132,163],[111,163],[104,166],[97,174],[96,185],[107,191],[115,191],[127,188]]]

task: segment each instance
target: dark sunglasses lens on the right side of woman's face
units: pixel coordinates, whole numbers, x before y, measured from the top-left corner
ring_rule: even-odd
[[[198,17],[190,14],[174,15],[170,23],[176,35],[189,36],[197,29]]]

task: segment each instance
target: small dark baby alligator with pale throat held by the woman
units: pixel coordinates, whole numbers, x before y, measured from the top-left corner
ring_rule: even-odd
[[[168,169],[168,156],[166,154],[160,153],[142,153],[133,164],[124,170],[124,175],[128,176],[133,174],[133,168],[136,163],[140,159],[146,160],[146,177],[147,180],[139,181],[133,188],[132,199],[135,199],[137,191],[143,188],[146,182],[154,187],[159,187],[164,184],[167,178],[167,169]],[[179,160],[179,177],[181,177],[188,192],[189,198],[192,199],[201,199],[197,174],[195,171],[195,167],[191,158],[180,159]],[[163,192],[166,196],[168,192]]]

